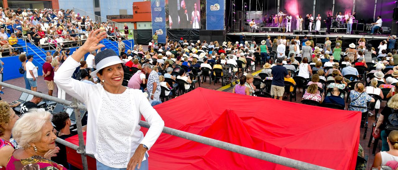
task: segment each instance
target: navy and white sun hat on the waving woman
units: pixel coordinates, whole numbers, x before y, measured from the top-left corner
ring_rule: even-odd
[[[97,77],[98,71],[102,70],[105,67],[112,66],[115,64],[126,63],[120,60],[119,56],[112,49],[106,49],[101,52],[98,52],[96,57],[94,58],[94,63],[96,64],[96,71],[90,73],[92,77]]]

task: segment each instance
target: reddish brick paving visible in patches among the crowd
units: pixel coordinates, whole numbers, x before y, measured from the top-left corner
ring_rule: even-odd
[[[258,66],[257,70],[260,70],[260,69],[261,69],[261,67]],[[18,78],[18,79],[12,79],[12,80],[5,81],[5,83],[16,85],[16,86],[19,86],[19,87],[25,87],[25,81],[23,80],[22,77]],[[41,92],[43,92],[45,94],[48,93],[47,86],[46,86],[46,84],[44,82],[43,77],[39,77],[38,78],[37,84],[38,84],[38,88],[37,88],[38,91],[41,91]],[[211,85],[209,85],[209,79],[207,79],[207,82],[202,83],[201,87],[207,88],[207,89],[213,89],[213,90],[216,90],[216,89],[219,89],[220,87],[222,87],[221,83],[216,83],[215,85],[213,85],[213,84],[214,84],[214,82],[211,82]],[[196,84],[195,87],[199,87],[199,86]],[[227,88],[224,91],[232,92],[232,88]],[[11,101],[17,100],[20,97],[20,95],[21,95],[21,92],[13,90],[13,89],[10,89],[10,88],[3,89],[3,92],[4,92],[4,95],[1,95],[0,97],[2,97],[2,99],[6,100],[7,102],[11,102]],[[53,96],[57,97],[57,89],[54,90]],[[301,100],[302,100],[301,96],[302,96],[302,94],[298,94],[297,95],[297,101],[294,101],[294,99],[293,99],[293,102],[301,102]],[[66,100],[71,101],[72,97],[70,97],[68,94],[66,94]],[[289,99],[284,99],[284,100],[289,101]],[[382,106],[382,107],[384,105],[385,105],[385,101],[383,101],[382,104],[380,104],[380,106]],[[382,108],[380,110],[382,110]],[[366,139],[362,138],[365,129],[361,128],[361,139],[360,139],[360,144],[361,144],[361,146],[363,147],[363,149],[365,151],[365,156],[369,156],[368,164],[367,164],[367,167],[368,167],[369,170],[371,169],[370,166],[372,166],[373,159],[374,159],[374,156],[371,154],[373,145],[371,145],[371,147],[367,147],[368,141],[369,141],[369,137],[371,136],[371,130],[372,130],[371,126],[372,126],[373,122],[375,122],[375,117],[374,116],[373,117],[369,117],[369,125],[368,125],[369,128],[367,129],[367,137],[366,137]],[[379,141],[379,145],[377,147],[376,153],[380,152],[380,149],[381,149],[381,140]]]

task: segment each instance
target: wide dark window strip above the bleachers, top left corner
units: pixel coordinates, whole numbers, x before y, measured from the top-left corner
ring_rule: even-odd
[[[52,8],[51,1],[29,1],[29,0],[8,0],[8,8],[30,8],[30,9],[44,9]],[[3,7],[3,1],[1,1],[1,6]]]

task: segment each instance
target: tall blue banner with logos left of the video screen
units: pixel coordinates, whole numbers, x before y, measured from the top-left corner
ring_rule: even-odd
[[[151,0],[152,35],[158,33],[158,43],[166,43],[165,0]]]

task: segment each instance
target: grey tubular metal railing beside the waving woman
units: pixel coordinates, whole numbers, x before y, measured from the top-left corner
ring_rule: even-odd
[[[4,86],[4,87],[8,87],[10,89],[14,89],[17,91],[21,91],[24,93],[28,93],[31,95],[35,95],[38,97],[41,97],[43,99],[48,99],[48,100],[53,100],[55,102],[58,102],[60,104],[64,104],[67,106],[70,106],[72,108],[74,108],[74,112],[76,114],[76,120],[80,120],[80,110],[87,110],[86,106],[82,105],[82,104],[78,104],[78,101],[76,99],[73,99],[73,102],[68,101],[68,100],[63,100],[63,99],[59,99],[57,97],[53,97],[53,96],[49,96],[49,95],[45,95],[43,93],[38,93],[35,91],[31,91],[31,90],[27,90],[24,89],[22,87],[18,87],[18,86],[14,86],[14,85],[10,85],[4,82],[0,82],[0,85]],[[57,139],[58,142],[60,142],[62,145],[68,146],[74,150],[77,151],[78,154],[80,154],[82,156],[82,165],[84,170],[88,169],[88,165],[87,165],[87,160],[86,160],[86,156],[91,156],[94,157],[93,155],[87,154],[85,152],[84,149],[84,140],[83,140],[83,131],[82,131],[82,123],[80,121],[76,121],[77,124],[77,131],[78,131],[78,137],[79,137],[79,146],[76,146],[72,143],[69,143],[67,141],[64,141],[62,139]],[[140,121],[139,123],[140,126],[142,127],[146,127],[149,128],[150,125],[148,124],[148,122],[144,122],[144,121]],[[181,137],[184,139],[188,139],[191,141],[196,141],[198,143],[203,143],[205,145],[209,145],[209,146],[213,146],[213,147],[217,147],[220,149],[225,149],[227,151],[232,151],[234,153],[240,153],[242,155],[247,155],[247,156],[251,156],[254,158],[258,158],[261,160],[265,160],[268,162],[273,162],[275,164],[281,164],[283,166],[288,166],[291,168],[296,168],[296,169],[300,169],[300,170],[331,170],[330,168],[326,168],[326,167],[322,167],[322,166],[318,166],[318,165],[314,165],[314,164],[310,164],[310,163],[306,163],[306,162],[302,162],[299,160],[294,160],[291,158],[286,158],[283,156],[279,156],[279,155],[273,155],[270,153],[265,153],[262,151],[258,151],[255,149],[250,149],[247,147],[242,147],[239,145],[235,145],[232,143],[227,143],[227,142],[223,142],[223,141],[219,141],[216,139],[211,139],[209,137],[203,137],[200,135],[196,135],[193,133],[188,133],[185,131],[180,131],[178,129],[172,129],[170,127],[164,127],[163,128],[163,133],[169,134],[169,135],[174,135],[177,137]]]

